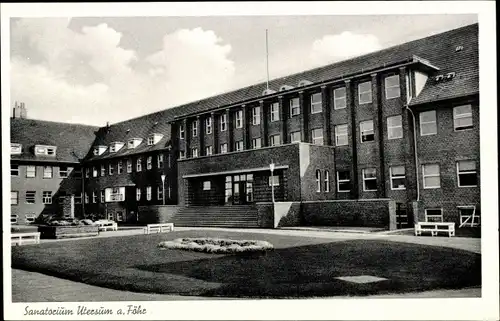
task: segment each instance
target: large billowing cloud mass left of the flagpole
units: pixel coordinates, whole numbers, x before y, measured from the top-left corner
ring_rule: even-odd
[[[65,18],[20,19],[12,41],[28,49],[11,57],[12,101],[25,102],[30,118],[103,125],[224,91],[235,73],[231,46],[213,31],[166,34],[143,59],[121,39],[106,24],[78,32]]]

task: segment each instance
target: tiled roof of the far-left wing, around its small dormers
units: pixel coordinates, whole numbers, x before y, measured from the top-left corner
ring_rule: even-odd
[[[98,129],[89,125],[11,118],[10,141],[22,144],[21,154],[11,155],[11,159],[78,163],[92,146]],[[56,146],[56,156],[35,156],[35,145]]]

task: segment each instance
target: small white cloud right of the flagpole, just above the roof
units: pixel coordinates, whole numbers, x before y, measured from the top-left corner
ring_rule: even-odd
[[[328,64],[382,49],[377,37],[344,31],[325,35],[311,46],[310,59],[315,65]]]

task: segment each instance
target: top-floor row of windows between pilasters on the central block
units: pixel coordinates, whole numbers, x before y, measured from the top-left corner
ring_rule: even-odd
[[[401,95],[399,86],[399,76],[390,76],[385,79],[385,94],[387,99],[398,98]],[[358,99],[360,104],[368,104],[372,102],[372,85],[371,81],[367,81],[358,85]],[[314,93],[310,96],[311,114],[320,113],[323,111],[323,99],[321,93]],[[335,110],[344,109],[347,107],[346,102],[346,88],[336,88],[333,90],[333,108]],[[251,123],[252,125],[260,125],[261,122],[260,106],[252,107]],[[295,97],[289,101],[289,115],[290,117],[300,115],[300,101]],[[279,103],[275,102],[270,105],[270,119],[271,122],[280,120]],[[219,116],[220,131],[227,130],[227,114]],[[212,117],[205,118],[205,133],[212,134],[213,132]],[[235,112],[235,127],[243,128],[243,110]],[[199,121],[194,120],[191,123],[192,137],[198,136]],[[185,138],[185,128],[181,124],[179,127],[180,139]]]

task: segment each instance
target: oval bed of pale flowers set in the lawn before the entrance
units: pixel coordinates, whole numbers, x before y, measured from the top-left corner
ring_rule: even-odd
[[[206,253],[265,252],[273,249],[266,241],[230,240],[216,238],[180,238],[158,244],[161,249],[180,249]]]

